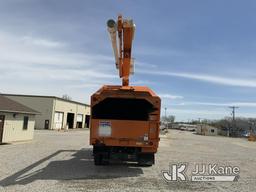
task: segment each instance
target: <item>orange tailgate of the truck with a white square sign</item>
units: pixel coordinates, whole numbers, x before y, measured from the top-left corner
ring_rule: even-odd
[[[150,147],[158,142],[158,129],[150,125],[150,121],[92,119],[91,142],[99,140],[109,146]]]

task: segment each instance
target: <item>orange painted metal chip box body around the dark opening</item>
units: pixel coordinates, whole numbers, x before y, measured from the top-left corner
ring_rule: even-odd
[[[155,110],[145,121],[94,119],[92,117],[90,144],[100,142],[106,146],[141,147],[142,152],[156,152],[159,142],[160,98],[148,87],[105,85],[92,95],[91,109],[106,98],[144,99],[151,103]],[[106,124],[107,130],[109,126],[111,127],[111,133],[107,133],[109,135],[99,134],[101,122]]]

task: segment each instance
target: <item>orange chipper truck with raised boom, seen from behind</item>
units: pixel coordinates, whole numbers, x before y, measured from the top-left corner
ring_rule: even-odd
[[[161,100],[148,87],[129,86],[134,69],[133,20],[119,15],[117,22],[108,20],[107,27],[122,86],[104,85],[91,96],[90,144],[94,164],[118,159],[151,166],[160,140]]]

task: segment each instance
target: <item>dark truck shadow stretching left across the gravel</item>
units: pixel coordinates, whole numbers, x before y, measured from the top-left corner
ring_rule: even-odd
[[[71,155],[72,154],[72,155]],[[64,155],[67,160],[53,160]],[[47,164],[47,161],[49,163]],[[47,164],[46,166],[43,166]],[[143,174],[132,164],[95,166],[92,150],[59,150],[0,181],[0,186],[26,185],[35,180],[78,180],[137,177]]]

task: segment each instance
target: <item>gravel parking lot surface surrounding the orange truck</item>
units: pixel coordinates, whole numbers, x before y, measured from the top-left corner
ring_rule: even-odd
[[[166,182],[162,170],[187,163],[238,166],[237,182]],[[256,191],[256,143],[170,130],[156,164],[94,166],[88,130],[35,131],[30,142],[0,145],[0,191]]]

